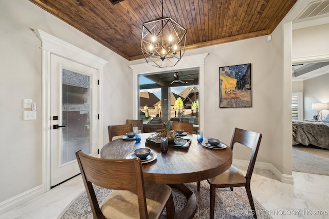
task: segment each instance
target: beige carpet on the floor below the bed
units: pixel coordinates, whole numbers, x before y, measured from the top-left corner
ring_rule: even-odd
[[[293,171],[329,175],[329,150],[293,146]]]

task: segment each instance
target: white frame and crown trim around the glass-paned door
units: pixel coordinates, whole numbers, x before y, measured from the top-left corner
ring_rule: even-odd
[[[42,185],[43,192],[50,190],[50,54],[94,68],[98,71],[98,149],[103,142],[102,123],[102,79],[103,66],[108,62],[76,46],[68,44],[44,31],[34,33],[42,42]]]

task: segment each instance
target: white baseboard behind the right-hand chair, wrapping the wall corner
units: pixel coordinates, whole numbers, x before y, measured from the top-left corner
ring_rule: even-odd
[[[235,166],[242,166],[242,167],[248,167],[249,161],[245,160],[239,160],[239,159],[233,159],[233,165]],[[256,162],[255,167],[257,169],[262,169],[262,170],[269,170],[271,171],[277,178],[280,180],[282,183],[287,183],[287,184],[294,184],[294,176],[293,175],[288,175],[288,174],[283,174],[281,173],[275,166],[273,166],[271,163],[265,163],[265,162]]]

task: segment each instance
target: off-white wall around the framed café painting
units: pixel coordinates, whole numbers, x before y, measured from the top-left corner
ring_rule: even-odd
[[[187,51],[186,55],[209,53],[205,60],[205,135],[216,137],[229,144],[234,127],[249,129],[264,134],[258,161],[270,162],[268,153],[268,126],[259,118],[267,116],[268,105],[264,104],[269,90],[269,45],[266,36],[246,39],[227,44]],[[251,108],[220,108],[219,67],[251,63]],[[235,153],[234,158],[244,158]]]

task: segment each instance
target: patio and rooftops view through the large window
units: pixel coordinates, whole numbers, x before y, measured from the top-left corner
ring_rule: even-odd
[[[171,71],[139,77],[139,118],[144,131],[173,122],[199,125],[199,70]]]

